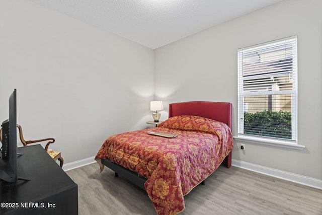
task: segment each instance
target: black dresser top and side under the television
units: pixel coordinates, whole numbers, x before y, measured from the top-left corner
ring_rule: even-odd
[[[16,183],[0,181],[0,214],[78,214],[77,184],[40,145],[21,147]],[[21,180],[22,179],[22,180]]]

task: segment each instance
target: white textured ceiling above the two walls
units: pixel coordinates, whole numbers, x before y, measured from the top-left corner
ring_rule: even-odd
[[[31,0],[149,48],[281,0]]]

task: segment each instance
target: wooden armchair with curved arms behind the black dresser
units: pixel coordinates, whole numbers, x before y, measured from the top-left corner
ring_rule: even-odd
[[[22,142],[22,144],[24,145],[24,147],[26,147],[28,144],[34,144],[35,142],[42,142],[42,141],[48,141],[46,146],[45,146],[45,150],[46,152],[50,155],[50,157],[52,159],[54,159],[54,161],[59,161],[59,166],[62,167],[62,165],[64,164],[64,159],[61,157],[60,152],[56,152],[56,151],[49,151],[48,152],[48,147],[50,144],[53,144],[55,142],[54,138],[45,138],[45,139],[37,139],[37,140],[28,140],[26,141],[24,139],[23,133],[22,133],[22,127],[20,125],[17,124],[17,127],[19,129],[19,137],[20,137],[20,141]],[[2,142],[2,128],[0,129],[0,141]]]

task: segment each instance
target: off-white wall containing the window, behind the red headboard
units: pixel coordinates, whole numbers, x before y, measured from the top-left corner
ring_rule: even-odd
[[[249,143],[243,153],[235,140],[232,158],[322,179],[321,9],[322,1],[285,0],[156,49],[155,99],[231,102],[236,135],[237,49],[297,35],[298,144],[306,148]]]

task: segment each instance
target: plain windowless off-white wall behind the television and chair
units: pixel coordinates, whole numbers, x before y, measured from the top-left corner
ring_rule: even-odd
[[[153,50],[23,0],[0,1],[0,119],[17,89],[27,140],[54,137],[65,163],[151,119]]]

